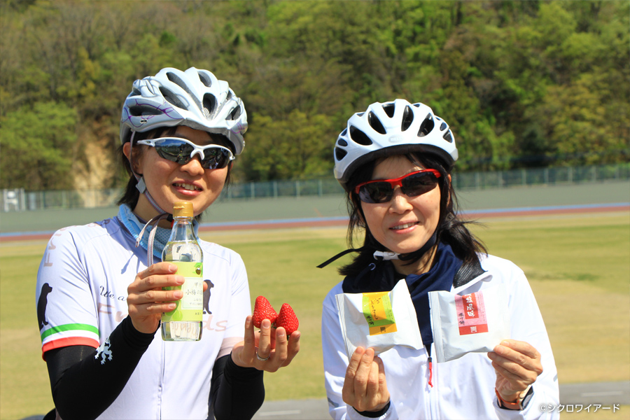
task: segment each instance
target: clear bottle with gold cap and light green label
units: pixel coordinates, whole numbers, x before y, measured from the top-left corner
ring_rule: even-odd
[[[177,307],[162,314],[162,339],[165,341],[198,341],[202,335],[204,311],[203,254],[193,230],[193,204],[176,202],[173,207],[171,237],[162,251],[162,261],[177,265],[184,276],[183,297]],[[174,289],[171,287],[169,289]]]

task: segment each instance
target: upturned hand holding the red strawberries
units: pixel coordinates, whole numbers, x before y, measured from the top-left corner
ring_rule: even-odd
[[[251,315],[245,319],[245,339],[232,348],[232,360],[241,367],[276,372],[287,366],[300,351],[300,331],[286,336],[284,328],[272,331],[271,321],[263,319],[260,331],[254,331]]]

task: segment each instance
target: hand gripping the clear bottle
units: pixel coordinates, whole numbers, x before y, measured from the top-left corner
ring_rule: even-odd
[[[177,266],[169,262],[157,262],[136,275],[127,287],[127,307],[134,328],[146,334],[158,330],[162,312],[175,309],[181,290],[163,290],[167,286],[181,286],[183,276],[175,274]],[[204,282],[204,291],[208,285]]]

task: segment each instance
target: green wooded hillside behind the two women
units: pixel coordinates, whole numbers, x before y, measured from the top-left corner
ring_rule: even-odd
[[[162,67],[244,100],[235,181],[329,177],[352,113],[447,120],[458,171],[630,160],[623,1],[0,3],[0,188],[120,186],[123,99]]]

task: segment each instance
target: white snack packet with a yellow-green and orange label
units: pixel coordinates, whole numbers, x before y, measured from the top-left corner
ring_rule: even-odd
[[[348,358],[358,346],[372,347],[374,354],[395,345],[422,348],[418,318],[405,280],[398,281],[390,292],[339,293],[335,297]]]

